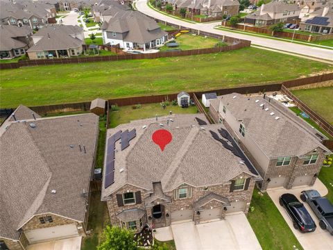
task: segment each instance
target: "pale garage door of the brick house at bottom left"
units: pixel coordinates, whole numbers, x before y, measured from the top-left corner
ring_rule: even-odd
[[[26,238],[32,243],[53,240],[56,238],[70,238],[78,236],[78,229],[75,224],[64,226],[53,226],[50,228],[40,228],[31,231],[25,231]]]

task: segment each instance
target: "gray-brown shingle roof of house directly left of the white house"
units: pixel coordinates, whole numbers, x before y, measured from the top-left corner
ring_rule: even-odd
[[[31,51],[48,51],[57,49],[72,49],[81,47],[85,44],[84,40],[78,39],[75,34],[83,33],[83,29],[79,26],[72,25],[49,25],[42,27],[35,37],[42,37],[33,46],[28,49]]]

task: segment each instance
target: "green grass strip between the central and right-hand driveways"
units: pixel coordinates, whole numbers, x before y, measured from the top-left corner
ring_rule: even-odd
[[[251,205],[255,208],[247,217],[255,235],[264,250],[302,249],[300,243],[280,214],[278,208],[268,194],[258,194],[257,188],[253,192]]]

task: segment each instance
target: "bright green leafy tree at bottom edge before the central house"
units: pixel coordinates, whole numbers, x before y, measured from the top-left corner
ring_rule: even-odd
[[[106,226],[98,250],[137,250],[134,232],[117,226]]]

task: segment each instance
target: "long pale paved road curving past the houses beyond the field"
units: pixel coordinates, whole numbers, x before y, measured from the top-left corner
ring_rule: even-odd
[[[168,17],[167,15],[163,15],[160,12],[157,12],[155,10],[152,10],[149,8],[146,4],[146,0],[137,0],[136,8],[140,12],[143,12],[144,14],[164,20],[166,22],[170,22],[172,24],[177,24],[181,26],[185,26],[187,28],[195,28],[200,31],[207,31],[211,33],[216,33],[219,35],[228,35],[233,38],[239,38],[244,40],[251,40],[252,44],[268,47],[271,49],[278,49],[282,51],[287,51],[289,53],[298,53],[303,56],[311,56],[314,58],[321,58],[323,60],[330,60],[333,62],[333,50],[332,49],[322,49],[318,47],[310,47],[307,45],[302,44],[293,44],[291,42],[284,42],[281,40],[272,40],[268,38],[260,38],[255,37],[253,35],[244,35],[240,33],[233,33],[228,31],[220,31],[216,30],[214,26],[220,24],[221,22],[212,22],[208,24],[191,24],[189,22],[184,22],[179,19],[175,19],[173,17]]]

